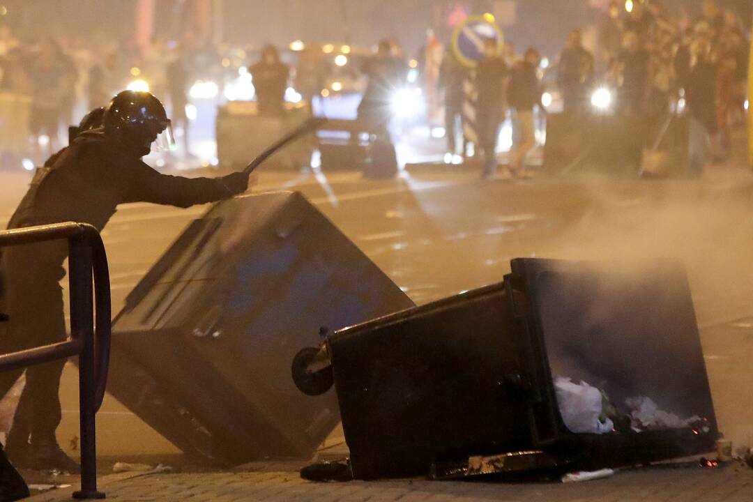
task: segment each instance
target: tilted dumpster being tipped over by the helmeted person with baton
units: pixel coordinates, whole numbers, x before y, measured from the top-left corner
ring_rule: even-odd
[[[312,457],[340,422],[289,363],[320,333],[413,302],[298,193],[193,221],[127,298],[108,391],[201,464]]]

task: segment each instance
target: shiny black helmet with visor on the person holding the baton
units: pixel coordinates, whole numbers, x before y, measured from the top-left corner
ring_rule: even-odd
[[[172,128],[165,107],[151,93],[124,90],[105,108],[102,120],[105,134],[117,139],[128,150],[143,157],[151,151],[151,144],[166,132],[172,147]]]

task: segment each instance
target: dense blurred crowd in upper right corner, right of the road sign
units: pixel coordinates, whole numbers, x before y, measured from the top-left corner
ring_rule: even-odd
[[[575,89],[566,106],[584,106],[584,86],[601,75],[617,89],[620,113],[656,123],[687,107],[694,126],[711,139],[712,160],[727,157],[730,130],[744,121],[750,47],[734,11],[704,0],[702,14],[693,19],[673,15],[656,0],[636,0],[629,13],[614,2],[597,47],[596,58],[579,49],[581,58],[593,63],[584,63],[587,69],[572,72],[575,76],[569,66],[562,68],[563,61],[572,61],[573,49],[563,51],[559,81],[563,88]]]

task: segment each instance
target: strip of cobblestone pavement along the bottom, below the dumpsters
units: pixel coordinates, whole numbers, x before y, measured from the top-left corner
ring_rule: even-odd
[[[314,483],[282,467],[255,472],[175,473],[105,476],[100,482],[108,500],[151,502],[191,500],[290,501],[343,500],[352,502],[642,502],[678,500],[753,500],[753,470],[740,464],[718,469],[647,467],[626,470],[608,479],[580,483],[432,482],[424,479],[380,482]],[[29,500],[71,500],[74,488],[47,491]]]

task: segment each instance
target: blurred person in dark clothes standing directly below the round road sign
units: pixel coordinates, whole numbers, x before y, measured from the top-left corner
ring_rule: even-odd
[[[476,68],[476,126],[478,142],[483,153],[483,178],[494,178],[497,168],[497,138],[499,127],[505,120],[508,65],[499,53],[498,41],[484,41],[484,59]],[[505,178],[509,178],[505,172]]]

